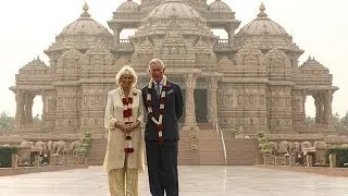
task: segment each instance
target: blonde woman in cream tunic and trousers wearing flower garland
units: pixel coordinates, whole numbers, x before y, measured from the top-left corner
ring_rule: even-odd
[[[111,196],[138,195],[138,172],[144,171],[144,109],[137,75],[125,65],[116,74],[119,87],[109,91],[104,126],[109,130],[104,169]]]

